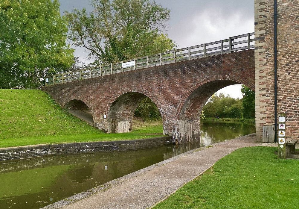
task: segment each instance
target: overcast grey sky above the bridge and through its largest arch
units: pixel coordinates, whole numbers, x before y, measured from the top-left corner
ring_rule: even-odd
[[[168,37],[179,47],[223,40],[231,36],[254,32],[253,0],[155,0],[170,9]],[[74,8],[92,11],[89,0],[60,0],[60,12]],[[76,50],[75,56],[86,56]],[[241,97],[241,85],[223,88],[219,92]]]

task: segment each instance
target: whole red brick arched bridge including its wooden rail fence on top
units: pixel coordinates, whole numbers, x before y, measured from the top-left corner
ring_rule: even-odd
[[[43,90],[62,107],[91,110],[94,126],[107,132],[131,131],[136,107],[149,97],[160,110],[164,134],[195,140],[202,107],[213,93],[233,84],[254,90],[253,36],[54,75]]]

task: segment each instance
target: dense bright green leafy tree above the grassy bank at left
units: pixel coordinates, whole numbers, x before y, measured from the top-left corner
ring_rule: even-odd
[[[3,87],[40,87],[73,63],[58,0],[0,0],[0,20],[0,63],[9,63],[0,66],[9,79]]]

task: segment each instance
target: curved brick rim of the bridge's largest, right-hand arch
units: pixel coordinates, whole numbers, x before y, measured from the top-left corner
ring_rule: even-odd
[[[240,78],[240,77],[237,77],[234,75],[215,75],[215,76],[203,78],[202,80],[200,80],[199,82],[194,84],[191,88],[189,88],[187,90],[187,92],[184,93],[184,95],[182,96],[182,98],[178,104],[178,108],[176,110],[176,115],[175,115],[176,119],[180,119],[180,115],[183,110],[184,104],[187,101],[187,99],[189,99],[191,94],[195,90],[197,90],[199,87],[201,87],[202,85],[208,84],[213,81],[231,81],[231,82],[235,82],[235,84],[243,84],[243,85],[249,87],[253,91],[255,89],[254,82],[248,81],[245,78]],[[232,84],[229,84],[229,85],[232,85]],[[229,85],[227,85],[227,86],[229,86]]]

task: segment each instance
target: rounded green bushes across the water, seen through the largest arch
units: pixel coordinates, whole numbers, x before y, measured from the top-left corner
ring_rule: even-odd
[[[217,93],[209,99],[203,107],[205,117],[242,118],[242,102],[240,99],[231,98]]]

